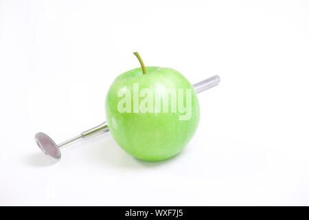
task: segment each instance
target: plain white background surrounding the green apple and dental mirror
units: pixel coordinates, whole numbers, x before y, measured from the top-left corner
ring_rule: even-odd
[[[178,156],[141,162],[110,134],[113,79],[146,65],[196,83],[201,120]],[[309,1],[0,1],[0,205],[309,205]]]

